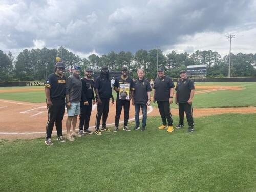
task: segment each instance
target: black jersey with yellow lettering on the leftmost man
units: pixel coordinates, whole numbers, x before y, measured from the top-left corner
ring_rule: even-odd
[[[66,77],[61,77],[57,73],[50,74],[45,82],[45,87],[50,88],[51,99],[65,98],[65,85]]]

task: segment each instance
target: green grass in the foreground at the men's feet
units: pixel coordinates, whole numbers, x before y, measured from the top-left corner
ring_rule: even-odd
[[[0,191],[256,191],[255,119],[202,117],[194,133],[169,134],[151,117],[145,132],[54,139],[53,146],[43,138],[2,140]]]

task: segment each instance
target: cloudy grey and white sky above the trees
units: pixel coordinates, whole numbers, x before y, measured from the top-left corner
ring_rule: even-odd
[[[0,50],[256,53],[256,0],[0,0]]]

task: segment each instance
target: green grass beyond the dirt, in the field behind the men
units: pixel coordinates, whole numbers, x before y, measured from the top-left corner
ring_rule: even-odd
[[[219,86],[244,86],[244,90],[221,90],[208,93],[196,94],[193,100],[194,108],[217,108],[217,107],[232,107],[232,106],[256,106],[256,82],[208,82],[196,83],[196,85],[219,85]],[[42,88],[42,86],[35,87],[9,87],[9,89],[33,89]],[[7,89],[7,88],[6,88]],[[199,91],[198,89],[196,91]],[[113,92],[116,99],[116,92]],[[16,101],[27,102],[44,102],[44,91],[31,91],[31,92],[10,92],[0,93],[0,99],[9,99]],[[175,101],[175,98],[174,98]],[[151,102],[152,106],[157,106],[157,103]],[[177,108],[175,103],[172,108]]]

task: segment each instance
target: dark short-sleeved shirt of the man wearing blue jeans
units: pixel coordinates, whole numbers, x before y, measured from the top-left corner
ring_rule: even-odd
[[[146,79],[136,79],[135,81],[135,92],[134,92],[134,103],[135,104],[146,104],[148,101],[147,92],[151,91],[150,82]]]

